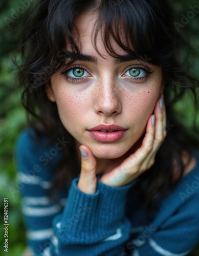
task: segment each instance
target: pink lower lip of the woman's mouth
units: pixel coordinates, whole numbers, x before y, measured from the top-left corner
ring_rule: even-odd
[[[127,130],[110,132],[110,133],[99,132],[99,131],[89,131],[89,134],[91,135],[91,137],[93,137],[94,139],[96,139],[98,141],[102,141],[102,142],[117,141],[117,140],[121,139],[122,137],[124,137],[124,135],[126,133],[127,133]]]

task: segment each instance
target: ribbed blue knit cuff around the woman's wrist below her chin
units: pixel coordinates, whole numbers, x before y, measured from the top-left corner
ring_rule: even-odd
[[[65,244],[102,241],[126,223],[126,194],[134,181],[123,187],[111,187],[98,177],[96,193],[85,194],[77,187],[78,180],[79,177],[72,181],[67,205],[55,225],[56,235]]]

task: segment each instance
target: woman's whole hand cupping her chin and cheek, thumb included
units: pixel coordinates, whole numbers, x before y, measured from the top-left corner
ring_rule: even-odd
[[[120,187],[136,179],[154,164],[154,158],[165,137],[166,111],[162,96],[156,103],[154,116],[151,115],[148,119],[141,147],[119,166],[101,176],[100,181],[109,186]],[[78,187],[86,194],[94,194],[97,186],[96,159],[89,147],[81,145],[80,150],[83,150],[84,157],[81,157]]]

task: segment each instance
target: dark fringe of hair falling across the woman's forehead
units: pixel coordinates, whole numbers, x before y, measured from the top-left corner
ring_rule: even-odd
[[[101,31],[104,47],[111,56],[120,57],[112,48],[110,40],[114,39],[125,52],[134,53],[138,59],[161,67],[169,66],[175,49],[175,30],[170,8],[163,0],[50,1],[46,38],[51,59],[56,59],[57,52],[68,49],[69,45],[74,52],[68,55],[64,50],[65,57],[71,59],[69,64],[78,57],[81,47],[74,40],[74,31],[79,34],[74,20],[83,13],[99,15],[93,28],[93,44],[99,55],[96,38]]]

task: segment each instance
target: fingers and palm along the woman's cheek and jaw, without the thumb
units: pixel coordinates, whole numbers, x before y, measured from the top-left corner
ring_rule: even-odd
[[[114,187],[124,186],[154,164],[155,156],[166,137],[166,110],[163,97],[162,103],[161,99],[157,101],[154,115],[156,117],[155,125],[152,125],[152,116],[150,116],[141,147],[111,172],[102,175],[100,178],[102,183]]]

